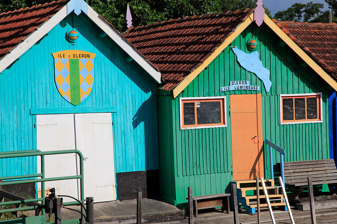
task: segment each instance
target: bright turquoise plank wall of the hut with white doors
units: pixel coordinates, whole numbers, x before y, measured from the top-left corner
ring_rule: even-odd
[[[80,37],[71,46],[65,34],[74,27]],[[87,19],[71,13],[0,73],[1,151],[36,147],[31,108],[75,108],[59,94],[52,53],[84,50],[96,53],[94,87],[79,107],[117,107],[113,113],[115,171],[158,169],[156,83],[126,53]],[[0,176],[36,173],[36,158],[0,160]],[[0,178],[1,179],[1,178]]]

